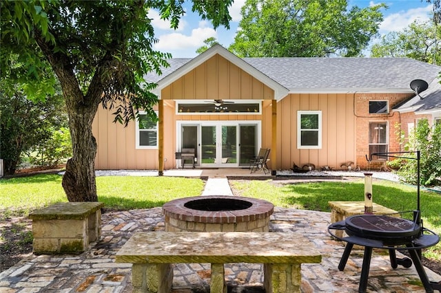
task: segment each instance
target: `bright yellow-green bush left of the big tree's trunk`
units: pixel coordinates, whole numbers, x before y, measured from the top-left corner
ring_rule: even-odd
[[[72,142],[69,129],[52,128],[52,136],[48,140],[37,144],[32,148],[37,153],[30,156],[30,162],[37,166],[58,166],[72,155]]]

